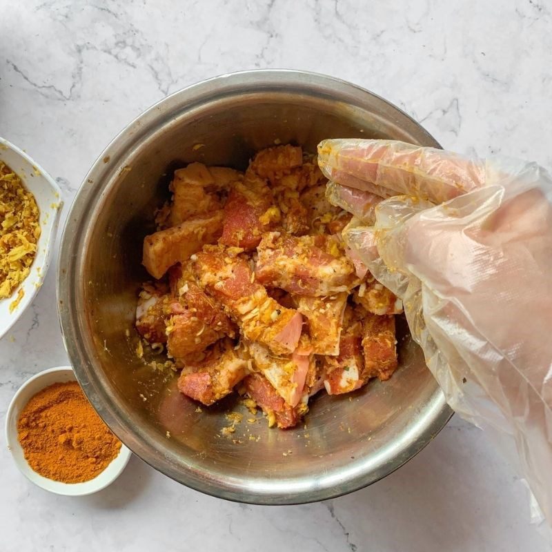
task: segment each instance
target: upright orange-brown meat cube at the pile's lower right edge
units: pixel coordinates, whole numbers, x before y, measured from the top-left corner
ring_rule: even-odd
[[[367,313],[362,319],[362,348],[366,377],[388,380],[397,369],[395,317]]]

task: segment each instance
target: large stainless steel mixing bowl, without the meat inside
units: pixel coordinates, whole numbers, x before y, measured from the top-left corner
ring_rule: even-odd
[[[395,106],[352,84],[296,71],[242,72],[190,86],[138,117],[101,154],[72,206],[58,301],[77,378],[132,451],[193,489],[261,504],[335,497],[397,469],[451,417],[408,335],[390,381],[319,397],[305,424],[288,431],[247,422],[233,398],[198,408],[177,392],[174,374],[137,357],[132,322],[139,284],[148,279],[141,243],[172,170],[190,161],[244,168],[275,141],[315,152],[329,137],[438,146]],[[231,410],[244,420],[225,437]]]

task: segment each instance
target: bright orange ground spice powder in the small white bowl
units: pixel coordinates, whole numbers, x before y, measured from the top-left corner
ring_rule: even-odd
[[[63,483],[94,479],[121,449],[77,382],[55,383],[34,395],[21,411],[17,433],[29,466]]]

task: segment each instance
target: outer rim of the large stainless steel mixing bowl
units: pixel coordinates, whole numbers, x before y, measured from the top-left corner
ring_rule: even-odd
[[[194,83],[186,88],[182,88],[155,103],[121,130],[121,132],[112,139],[110,144],[106,146],[103,152],[100,153],[83,180],[86,186],[81,186],[79,193],[77,193],[72,203],[68,215],[68,224],[66,224],[66,227],[63,229],[63,235],[61,237],[59,262],[57,266],[58,315],[63,341],[65,342],[72,364],[75,366],[75,375],[83,389],[86,390],[85,393],[88,400],[90,400],[90,403],[96,408],[101,418],[108,424],[115,435],[117,435],[122,442],[125,442],[132,452],[144,460],[144,462],[150,464],[150,466],[157,471],[164,473],[164,475],[196,491],[226,500],[267,505],[305,504],[346,495],[362,489],[369,484],[373,484],[382,479],[382,477],[398,469],[424,449],[424,447],[433,440],[435,435],[442,430],[446,423],[449,422],[453,415],[453,411],[449,405],[446,404],[444,394],[437,386],[437,382],[435,382],[435,392],[432,395],[431,415],[427,415],[431,423],[426,424],[423,428],[413,429],[413,435],[411,435],[411,437],[413,437],[412,442],[410,442],[410,444],[401,444],[391,465],[386,465],[383,470],[384,473],[374,474],[366,471],[361,475],[355,475],[346,480],[346,482],[339,484],[339,488],[337,488],[337,486],[321,486],[317,489],[311,489],[309,491],[301,490],[293,494],[289,491],[266,493],[250,490],[242,491],[235,487],[223,488],[219,480],[201,480],[197,475],[188,473],[188,471],[172,469],[170,463],[164,463],[162,461],[161,455],[158,453],[156,454],[155,451],[148,451],[144,442],[139,440],[135,432],[133,432],[132,426],[128,420],[125,419],[121,408],[108,404],[99,393],[101,386],[99,386],[95,379],[92,362],[83,354],[83,347],[79,343],[79,331],[77,331],[78,323],[74,319],[75,315],[71,313],[71,309],[65,308],[64,306],[62,308],[61,306],[63,302],[65,302],[65,304],[75,304],[74,293],[76,286],[73,286],[73,288],[70,287],[70,275],[75,270],[75,264],[78,262],[77,251],[72,250],[75,248],[76,241],[72,239],[75,235],[75,224],[83,224],[81,215],[86,213],[90,197],[99,197],[101,195],[103,191],[103,187],[101,186],[102,181],[108,181],[110,175],[124,170],[126,166],[124,150],[130,148],[132,144],[139,142],[141,138],[148,133],[148,126],[155,126],[155,121],[159,114],[164,113],[164,110],[170,108],[175,99],[185,99],[187,102],[186,106],[195,106],[195,102],[201,101],[209,95],[213,95],[214,90],[220,92],[224,88],[228,90],[228,92],[232,92],[236,87],[239,88],[247,85],[257,86],[258,88],[256,88],[256,90],[263,90],[263,86],[265,90],[267,88],[272,90],[276,87],[292,86],[295,88],[296,92],[300,92],[302,89],[307,91],[311,86],[320,86],[324,90],[328,90],[328,93],[330,93],[329,90],[332,90],[339,99],[341,99],[342,96],[348,95],[359,99],[361,102],[364,99],[364,102],[366,102],[366,99],[371,97],[392,108],[398,115],[402,115],[406,119],[407,124],[412,124],[419,132],[426,135],[428,144],[440,148],[440,144],[438,144],[438,142],[417,123],[417,121],[404,113],[400,108],[397,108],[393,103],[353,83],[314,72],[282,69],[248,70],[219,75],[218,77],[212,77],[199,83]],[[176,112],[177,110],[183,109],[184,108],[179,107],[177,109],[175,108],[174,111]],[[103,159],[106,158],[110,159],[110,164],[103,162]],[[72,221],[75,221],[75,224],[73,224]]]

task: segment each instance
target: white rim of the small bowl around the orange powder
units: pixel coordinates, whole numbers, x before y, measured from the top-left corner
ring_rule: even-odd
[[[33,395],[30,395],[30,397],[28,398],[24,397],[24,395],[26,394],[25,391],[28,386],[39,380],[46,379],[48,375],[53,373],[57,373],[60,376],[63,375],[65,377],[68,377],[68,379],[65,381],[77,382],[77,376],[75,375],[75,371],[73,371],[71,366],[55,366],[53,368],[46,368],[46,370],[40,371],[39,373],[36,373],[29,377],[28,380],[25,380],[25,382],[23,382],[23,384],[19,386],[19,388],[13,395],[12,400],[10,400],[8,410],[6,411],[6,421],[4,422],[6,446],[8,448],[8,451],[10,451],[10,455],[14,464],[17,466],[17,469],[23,475],[25,475],[25,477],[31,483],[39,486],[41,489],[44,489],[45,491],[48,491],[55,495],[63,496],[92,495],[94,493],[97,493],[98,491],[101,491],[102,489],[105,489],[107,486],[112,484],[112,482],[114,482],[117,477],[121,475],[121,473],[123,473],[126,465],[128,464],[128,461],[130,460],[130,456],[132,455],[132,452],[130,451],[130,449],[128,449],[127,446],[125,446],[124,443],[121,442],[121,450],[119,451],[119,454],[112,460],[112,462],[110,462],[110,464],[108,464],[108,466],[106,466],[106,469],[101,471],[101,473],[99,473],[93,479],[81,483],[63,483],[61,481],[50,480],[48,479],[48,477],[43,477],[39,473],[34,472],[32,468],[30,468],[30,466],[27,464],[24,456],[16,457],[15,455],[15,450],[21,449],[21,444],[19,444],[19,440],[17,439],[17,437],[12,439],[13,435],[17,435],[17,428],[14,427],[14,424],[17,424],[17,417],[13,415],[13,411],[15,408],[17,408],[17,406],[21,405],[21,402],[27,402],[28,400],[30,400],[30,397],[34,396],[34,394],[36,393],[39,393],[41,389],[55,383],[51,381],[49,381],[48,383],[45,382],[38,391],[35,391],[33,393]],[[108,470],[110,469],[110,466],[112,466],[113,462],[116,462],[117,460],[119,461],[109,472]],[[26,464],[28,470],[24,469],[23,464]],[[106,475],[108,475],[108,477],[106,477]]]

